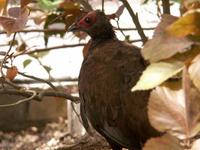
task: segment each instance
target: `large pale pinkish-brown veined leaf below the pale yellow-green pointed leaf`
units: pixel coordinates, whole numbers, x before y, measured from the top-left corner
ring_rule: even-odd
[[[189,98],[191,111],[186,114],[183,89],[157,87],[153,90],[148,105],[148,115],[153,127],[179,139],[195,136],[200,131],[200,94],[191,88]]]

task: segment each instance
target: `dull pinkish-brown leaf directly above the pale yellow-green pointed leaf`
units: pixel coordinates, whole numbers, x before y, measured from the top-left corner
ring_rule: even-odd
[[[146,60],[157,62],[191,49],[193,41],[185,37],[173,37],[165,31],[166,27],[176,20],[177,18],[173,16],[163,16],[161,23],[155,30],[153,39],[149,40],[142,49],[142,55]]]

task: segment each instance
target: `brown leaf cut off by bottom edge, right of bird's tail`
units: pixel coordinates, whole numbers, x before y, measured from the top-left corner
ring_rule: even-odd
[[[144,145],[143,150],[184,150],[177,138],[164,134],[161,137],[151,138]]]

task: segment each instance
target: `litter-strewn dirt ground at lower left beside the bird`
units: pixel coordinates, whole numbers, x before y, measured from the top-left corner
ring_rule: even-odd
[[[29,127],[23,131],[0,131],[0,150],[109,150],[103,138],[72,137],[67,121],[60,119],[44,127]]]

